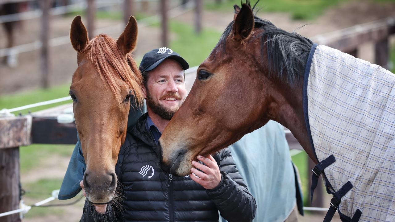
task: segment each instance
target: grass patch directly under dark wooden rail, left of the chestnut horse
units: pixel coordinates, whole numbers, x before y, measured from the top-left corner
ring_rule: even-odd
[[[77,141],[76,141],[77,142]],[[21,173],[27,173],[34,167],[40,166],[53,155],[70,157],[74,145],[32,144],[19,148]]]

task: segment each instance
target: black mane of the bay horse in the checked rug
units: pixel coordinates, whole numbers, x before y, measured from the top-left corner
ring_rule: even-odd
[[[255,3],[252,10],[259,0]],[[249,0],[246,4],[251,8]],[[263,30],[260,34],[250,38],[261,40],[261,56],[263,61],[263,49],[266,44],[267,58],[269,67],[269,77],[278,77],[280,80],[293,85],[297,81],[297,77],[303,76],[307,63],[308,54],[313,45],[312,41],[297,34],[296,32],[287,32],[281,28],[277,28],[273,23],[266,19],[261,19],[254,15],[254,30]],[[224,33],[220,37],[223,49],[225,50],[225,42],[233,28],[233,21],[228,24]],[[218,45],[217,45],[218,46]]]

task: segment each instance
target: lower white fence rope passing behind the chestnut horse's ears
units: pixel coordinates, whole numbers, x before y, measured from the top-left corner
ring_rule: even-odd
[[[182,15],[182,14],[192,10],[192,7],[191,7],[192,5],[193,5],[192,2],[188,2],[184,5],[177,6],[173,9],[170,9],[169,11],[167,11],[167,13],[169,13],[171,15],[169,18],[172,19],[174,17],[177,17],[179,15]],[[184,9],[184,7],[185,7],[185,9]],[[179,10],[179,9],[182,9],[182,10]],[[153,15],[153,16],[150,16],[150,17],[147,17],[144,19],[139,19],[137,22],[143,23],[143,24],[139,24],[139,28],[142,28],[142,27],[160,23],[160,19],[159,19],[158,15]],[[124,28],[123,24],[118,24],[115,26],[111,25],[111,26],[107,26],[105,28],[100,28],[100,29],[95,30],[95,34],[100,34],[100,33],[114,34],[117,32],[122,32],[122,28]],[[68,44],[69,42],[70,42],[70,36],[61,36],[58,38],[50,39],[48,44],[50,47],[53,47],[53,46],[58,46],[58,45],[65,45],[65,44]],[[41,41],[35,41],[32,43],[17,45],[17,46],[11,47],[11,48],[0,49],[0,57],[17,55],[20,53],[34,51],[36,49],[40,49],[41,45],[42,45]]]

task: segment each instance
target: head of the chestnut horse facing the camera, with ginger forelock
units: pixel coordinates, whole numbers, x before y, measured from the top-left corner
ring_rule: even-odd
[[[89,40],[77,16],[70,40],[77,51],[70,96],[87,164],[84,188],[88,202],[105,204],[113,200],[117,187],[115,164],[126,137],[130,103],[143,102],[142,76],[130,55],[137,41],[137,22],[131,16],[117,41],[105,34]]]

